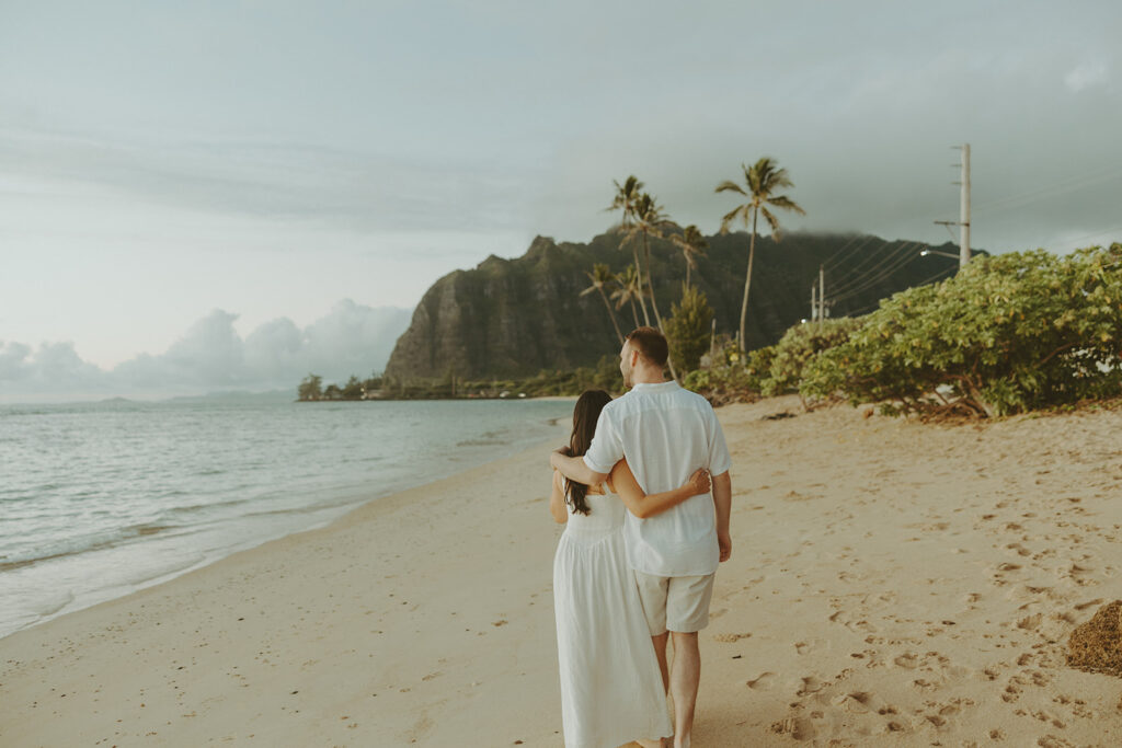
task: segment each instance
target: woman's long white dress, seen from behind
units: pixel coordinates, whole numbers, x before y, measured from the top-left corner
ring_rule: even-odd
[[[569,510],[553,558],[567,748],[617,748],[672,733],[643,606],[624,553],[624,508],[590,493]]]

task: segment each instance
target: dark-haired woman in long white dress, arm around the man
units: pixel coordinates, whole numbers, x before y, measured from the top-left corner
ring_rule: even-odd
[[[570,454],[588,451],[610,400],[603,390],[580,396]],[[671,735],[662,674],[624,554],[624,512],[650,517],[709,491],[701,469],[681,488],[644,496],[626,460],[613,468],[607,483],[618,499],[603,486],[572,483],[554,471],[550,495],[553,519],[568,521],[553,561],[567,748],[616,748],[635,739],[657,746]]]

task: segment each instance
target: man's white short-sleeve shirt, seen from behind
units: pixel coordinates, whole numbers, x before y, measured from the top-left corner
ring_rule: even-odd
[[[604,406],[585,464],[611,472],[624,456],[644,493],[670,491],[698,468],[714,475],[732,467],[712,406],[678,382],[638,384]],[[717,571],[717,517],[711,493],[690,497],[646,519],[629,511],[624,525],[632,569],[660,576]]]

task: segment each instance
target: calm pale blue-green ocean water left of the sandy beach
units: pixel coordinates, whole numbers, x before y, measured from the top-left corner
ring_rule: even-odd
[[[555,438],[571,413],[541,400],[0,406],[0,637]]]

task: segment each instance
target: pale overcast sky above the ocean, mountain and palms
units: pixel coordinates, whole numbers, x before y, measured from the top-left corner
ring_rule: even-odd
[[[1120,29],[1109,0],[0,0],[0,400],[365,376],[439,277],[588,241],[629,174],[712,233],[771,156],[788,230],[941,243],[968,142],[973,246],[1122,240]]]

